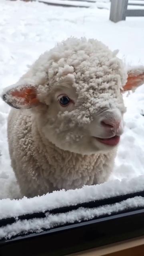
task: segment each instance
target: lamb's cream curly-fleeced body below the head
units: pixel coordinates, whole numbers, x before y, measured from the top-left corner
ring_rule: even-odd
[[[81,155],[61,150],[40,134],[29,110],[21,114],[11,110],[8,140],[12,168],[26,196],[102,183],[110,175],[116,153]]]

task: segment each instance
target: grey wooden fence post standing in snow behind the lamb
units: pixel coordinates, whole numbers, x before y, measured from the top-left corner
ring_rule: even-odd
[[[127,6],[128,0],[111,0],[110,20],[113,22],[126,20]]]

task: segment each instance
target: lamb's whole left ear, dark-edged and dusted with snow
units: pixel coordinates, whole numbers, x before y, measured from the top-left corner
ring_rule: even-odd
[[[32,108],[40,104],[35,86],[10,86],[4,91],[3,100],[13,108]]]

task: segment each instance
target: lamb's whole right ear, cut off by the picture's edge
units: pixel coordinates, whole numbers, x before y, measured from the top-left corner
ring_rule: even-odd
[[[128,71],[128,80],[123,87],[123,92],[134,91],[138,86],[144,84],[144,67],[140,66]]]

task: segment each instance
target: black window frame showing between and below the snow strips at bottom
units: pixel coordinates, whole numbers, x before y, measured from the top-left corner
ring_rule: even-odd
[[[57,214],[76,210],[79,207],[94,208],[114,204],[135,196],[144,197],[144,191],[105,198],[82,204],[56,208],[48,211]],[[44,218],[45,212],[18,216],[19,220]],[[15,218],[0,220],[0,226],[16,222]],[[144,207],[130,208],[118,213],[106,214],[88,221],[57,226],[43,232],[19,235],[0,240],[0,256],[10,254],[27,256],[61,256],[88,250],[114,242],[144,235]]]

